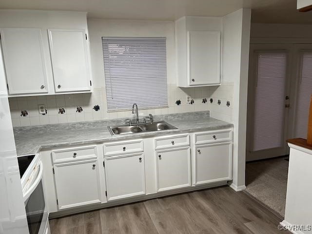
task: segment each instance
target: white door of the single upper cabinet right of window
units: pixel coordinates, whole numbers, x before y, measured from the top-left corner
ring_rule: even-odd
[[[187,39],[189,84],[220,84],[220,32],[189,31]]]

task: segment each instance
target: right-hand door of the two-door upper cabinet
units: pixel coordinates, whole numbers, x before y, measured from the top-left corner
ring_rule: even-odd
[[[50,29],[49,39],[55,92],[90,91],[85,31]]]

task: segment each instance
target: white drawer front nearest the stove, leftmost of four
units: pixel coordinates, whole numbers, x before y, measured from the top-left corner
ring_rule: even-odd
[[[97,158],[98,151],[95,145],[80,148],[69,148],[52,151],[53,163],[71,162],[83,159]]]

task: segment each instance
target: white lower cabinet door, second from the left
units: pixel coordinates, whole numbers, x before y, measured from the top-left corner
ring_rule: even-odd
[[[104,158],[107,200],[145,194],[143,154]]]

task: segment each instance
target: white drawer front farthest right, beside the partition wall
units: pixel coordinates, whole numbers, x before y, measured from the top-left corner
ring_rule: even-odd
[[[195,134],[195,144],[232,141],[232,130]]]

